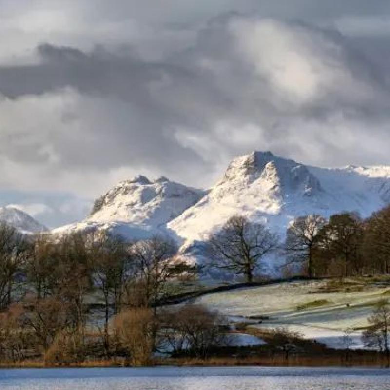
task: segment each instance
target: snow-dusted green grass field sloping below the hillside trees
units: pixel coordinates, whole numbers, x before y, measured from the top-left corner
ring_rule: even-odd
[[[351,330],[352,348],[361,348],[361,330],[368,325],[367,317],[375,304],[389,298],[389,287],[367,280],[351,280],[349,289],[327,291],[327,283],[276,283],[209,294],[196,302],[228,315],[233,321],[242,321],[242,317],[268,317],[251,326],[287,327],[334,348],[343,348],[340,338],[346,330]]]

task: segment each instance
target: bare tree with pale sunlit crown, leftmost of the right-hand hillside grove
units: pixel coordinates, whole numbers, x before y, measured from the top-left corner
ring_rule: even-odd
[[[310,278],[314,275],[314,247],[325,223],[325,218],[320,215],[300,216],[287,229],[285,250],[288,263],[307,264]]]

